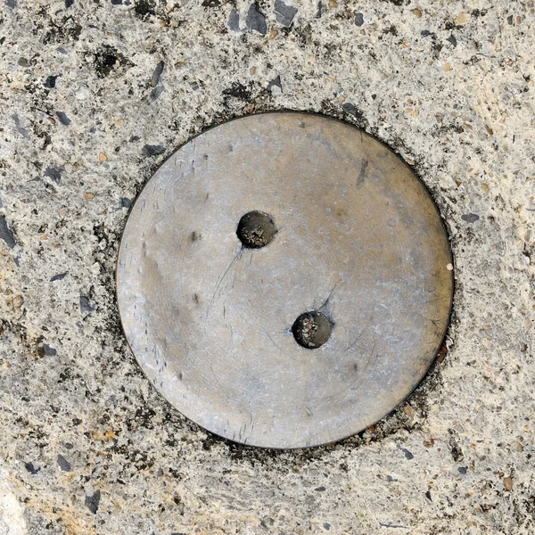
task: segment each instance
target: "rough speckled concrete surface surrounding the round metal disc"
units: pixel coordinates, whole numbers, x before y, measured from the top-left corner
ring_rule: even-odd
[[[535,530],[532,0],[5,0],[0,533]],[[128,208],[191,136],[317,111],[411,164],[451,235],[437,365],[319,449],[248,449],[141,374],[114,269]]]

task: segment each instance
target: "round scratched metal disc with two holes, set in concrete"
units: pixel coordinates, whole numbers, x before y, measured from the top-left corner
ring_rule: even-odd
[[[276,233],[247,248],[236,229],[252,210]],[[144,187],[119,310],[144,374],[185,416],[243,444],[314,446],[374,424],[424,377],[451,261],[429,193],[386,146],[325,117],[252,115],[195,137]],[[332,326],[316,349],[292,333],[308,311]]]

